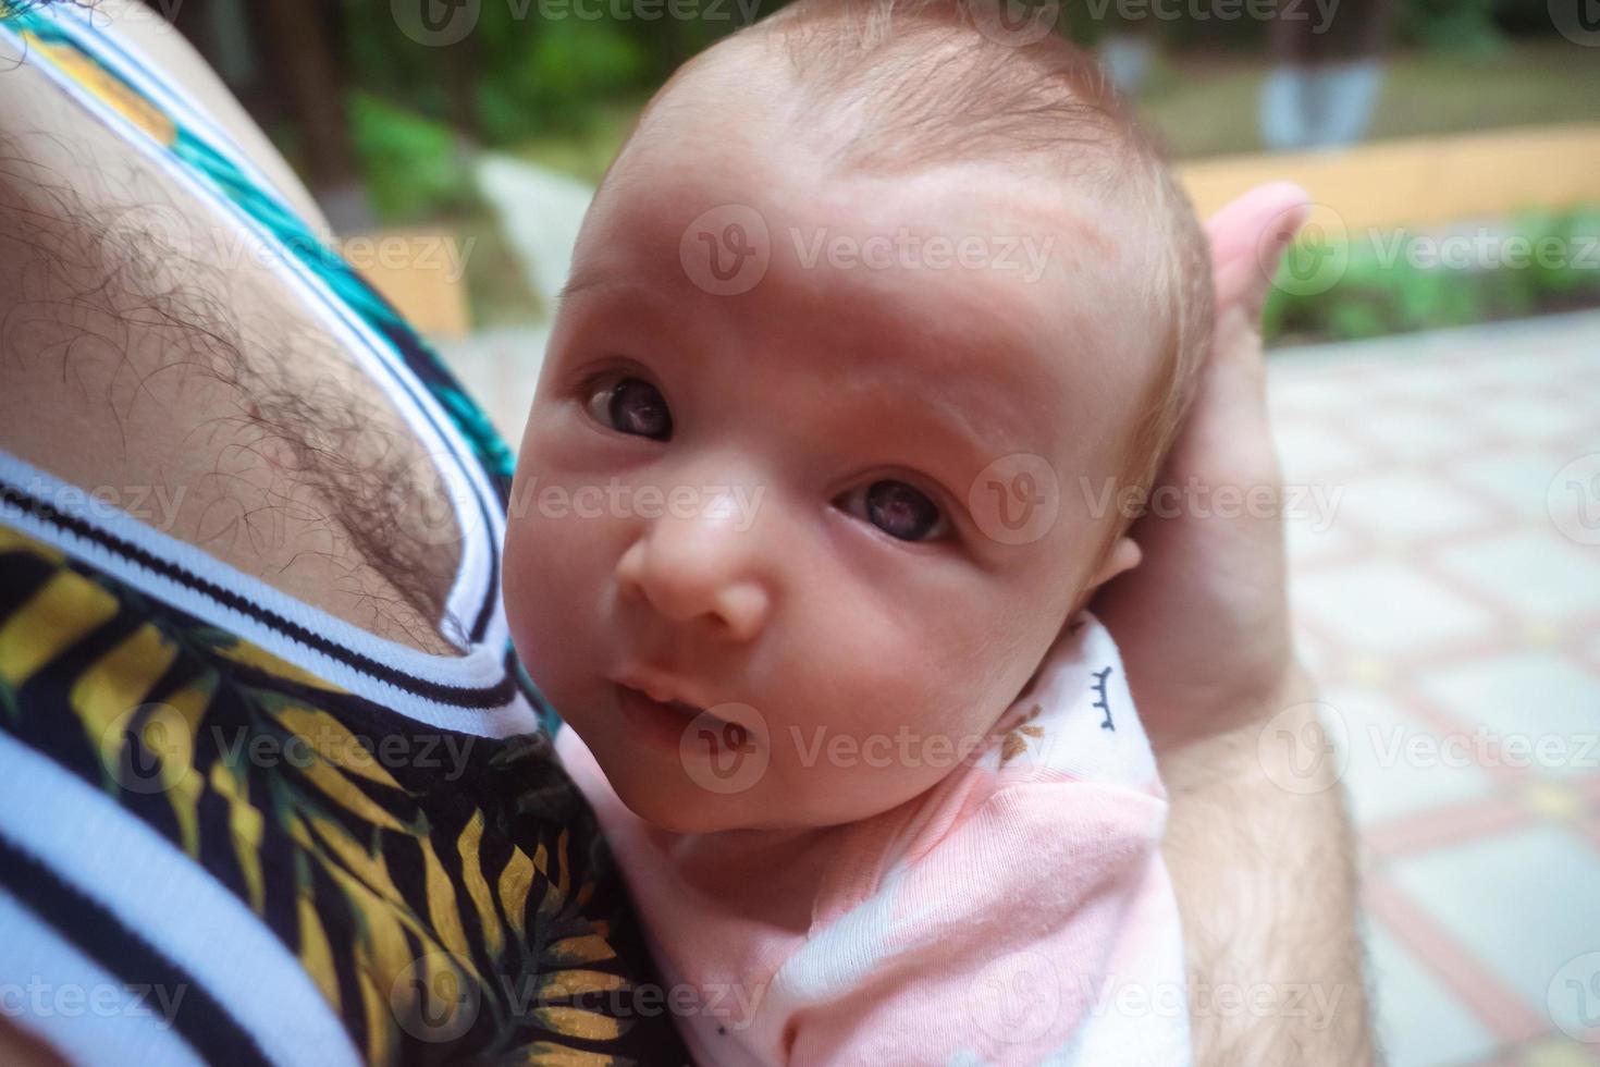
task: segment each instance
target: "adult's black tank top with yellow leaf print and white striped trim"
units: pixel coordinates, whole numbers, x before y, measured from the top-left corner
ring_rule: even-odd
[[[85,1064],[685,1062],[510,648],[506,446],[104,16],[0,40],[275,251],[466,534],[432,656],[0,451],[0,1013]]]

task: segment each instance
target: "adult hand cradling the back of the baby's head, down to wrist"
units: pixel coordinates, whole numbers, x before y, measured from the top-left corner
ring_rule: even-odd
[[[1261,309],[1307,213],[1304,190],[1282,182],[1253,189],[1206,224],[1213,350],[1157,478],[1174,486],[1184,506],[1178,515],[1134,523],[1144,560],[1093,606],[1117,638],[1134,704],[1158,749],[1240,726],[1293,675]],[[1206,507],[1218,490],[1270,494],[1272,514],[1219,517]]]

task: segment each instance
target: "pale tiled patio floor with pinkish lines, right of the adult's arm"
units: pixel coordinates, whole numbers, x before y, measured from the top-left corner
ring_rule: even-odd
[[[1389,1062],[1600,1064],[1600,315],[1283,352],[1270,400],[1336,501],[1294,609]]]

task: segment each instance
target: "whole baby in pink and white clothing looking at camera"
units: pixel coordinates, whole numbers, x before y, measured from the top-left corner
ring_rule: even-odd
[[[798,0],[678,70],[533,403],[512,632],[699,1062],[1189,1061],[1085,605],[1206,246],[1093,61],[973,3]]]

